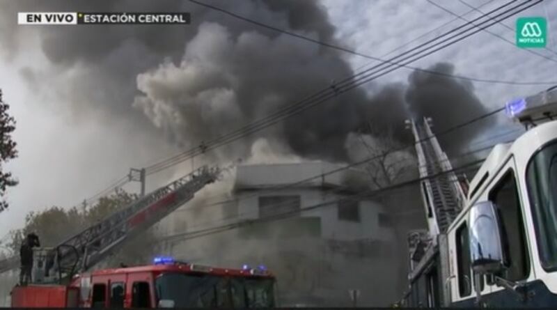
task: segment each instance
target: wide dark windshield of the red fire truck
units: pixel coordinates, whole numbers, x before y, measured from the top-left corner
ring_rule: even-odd
[[[274,280],[167,272],[155,280],[157,302],[176,308],[274,307]]]

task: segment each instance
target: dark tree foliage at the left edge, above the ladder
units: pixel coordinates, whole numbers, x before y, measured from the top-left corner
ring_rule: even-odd
[[[17,185],[11,172],[3,171],[3,164],[17,157],[17,145],[12,140],[12,132],[15,130],[15,119],[8,114],[10,105],[2,101],[2,90],[0,89],[0,196],[4,197],[6,189]],[[8,208],[8,202],[0,201],[0,212]]]

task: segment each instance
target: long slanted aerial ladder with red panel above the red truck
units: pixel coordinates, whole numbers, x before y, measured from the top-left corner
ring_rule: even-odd
[[[202,166],[150,194],[141,196],[100,222],[60,242],[56,247],[36,249],[33,263],[33,275],[36,279],[33,281],[60,282],[69,280],[75,272],[88,270],[107,258],[125,240],[146,231],[193,199],[196,192],[216,181],[220,173],[221,169],[217,166]],[[18,267],[17,256],[0,261],[0,273]],[[49,269],[52,271],[49,272]]]

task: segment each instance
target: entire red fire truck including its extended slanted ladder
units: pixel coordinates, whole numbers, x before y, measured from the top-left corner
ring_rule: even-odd
[[[217,180],[203,166],[142,196],[56,247],[34,249],[32,281],[15,286],[12,307],[274,307],[275,279],[260,266],[241,269],[157,257],[152,265],[90,271],[123,242],[146,231]],[[0,272],[18,268],[17,257]]]

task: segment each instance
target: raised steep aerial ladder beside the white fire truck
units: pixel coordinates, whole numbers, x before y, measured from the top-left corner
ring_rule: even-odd
[[[466,176],[457,176],[437,137],[431,130],[431,118],[407,121],[416,140],[416,155],[421,178],[421,196],[427,218],[427,231],[409,234],[410,275],[421,272],[429,256],[437,252],[437,238],[443,238],[448,226],[466,203]]]

